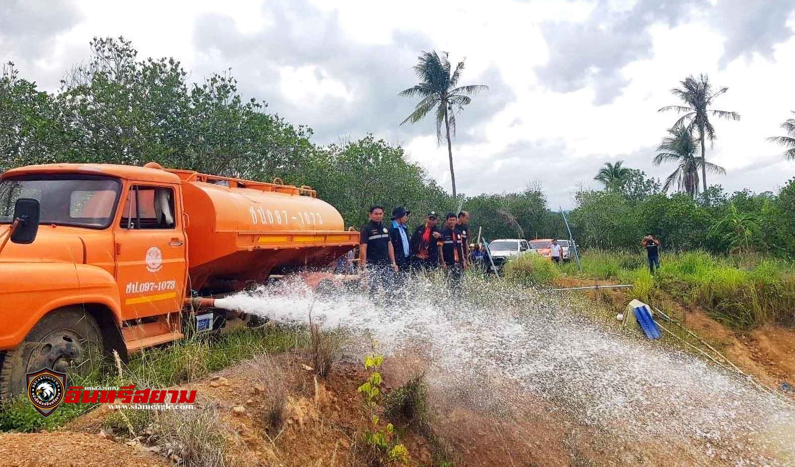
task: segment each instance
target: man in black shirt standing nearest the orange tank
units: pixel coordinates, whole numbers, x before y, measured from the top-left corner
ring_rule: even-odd
[[[369,276],[371,295],[375,294],[378,287],[389,290],[397,273],[390,231],[383,220],[384,208],[370,208],[370,222],[363,225],[359,238],[359,271]]]

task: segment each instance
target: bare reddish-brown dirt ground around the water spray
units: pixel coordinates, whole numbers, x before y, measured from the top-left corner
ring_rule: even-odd
[[[560,285],[592,282],[563,278]],[[605,305],[606,317],[627,302],[620,290],[587,294]],[[665,300],[655,305],[684,321],[689,329],[768,387],[781,391],[782,381],[793,382],[792,329],[766,327],[735,333],[700,309]],[[611,319],[615,320],[615,316]],[[407,352],[385,360],[382,374],[387,393],[427,368],[421,348]],[[274,362],[285,373],[289,394],[287,421],[278,431],[266,426],[262,387],[251,383],[250,368],[245,364],[226,368],[183,388],[198,391],[200,406],[219,408],[228,446],[226,465],[365,465],[360,453],[367,415],[362,396],[356,391],[369,376],[359,363],[362,353],[363,348],[348,349],[325,379],[316,378],[305,354],[274,356]],[[436,379],[440,377],[444,379],[436,375]],[[517,394],[511,387],[501,386],[497,379],[485,380],[485,384],[437,380],[438,384],[432,385],[428,399],[433,412],[433,442],[416,429],[396,423],[400,441],[409,450],[408,465],[440,465],[440,455],[460,467],[722,465],[702,456],[703,449],[684,444],[677,449],[676,440],[673,444],[672,440],[661,444],[654,439],[617,441],[593,426],[582,425],[547,401]],[[0,466],[183,465],[176,457],[166,457],[169,453],[151,440],[134,441],[128,433],[113,433],[103,426],[111,414],[107,407],[99,407],[57,432],[0,434]],[[382,416],[380,426],[386,422],[389,421]]]

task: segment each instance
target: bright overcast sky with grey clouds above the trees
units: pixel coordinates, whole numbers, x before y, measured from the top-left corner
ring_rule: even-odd
[[[728,173],[709,183],[775,191],[795,176],[765,140],[795,111],[792,0],[0,2],[0,60],[49,91],[87,60],[91,37],[120,35],[142,58],[182,61],[193,80],[231,68],[244,95],[312,126],[317,143],[372,132],[400,144],[448,189],[432,116],[399,126],[413,102],[397,93],[414,84],[421,51],[466,57],[461,83],[490,87],[457,117],[467,195],[541,181],[550,206],[568,208],[619,159],[665,178],[674,167],[650,161],[677,116],[657,109],[702,72],[729,88],[715,108],[743,117],[714,122],[708,160]]]

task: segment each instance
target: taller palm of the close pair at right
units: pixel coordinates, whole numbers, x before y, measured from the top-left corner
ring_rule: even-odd
[[[733,111],[716,111],[710,109],[716,97],[724,94],[729,88],[719,88],[713,91],[712,85],[709,84],[707,75],[700,75],[698,80],[692,75],[688,76],[681,81],[681,88],[671,89],[671,93],[676,95],[686,105],[671,105],[662,107],[659,111],[677,111],[683,113],[676,126],[685,126],[688,130],[697,131],[699,142],[701,144],[701,160],[707,160],[706,150],[704,149],[704,140],[709,139],[709,142],[715,141],[715,127],[709,121],[709,117],[718,117],[719,119],[739,120],[740,115]],[[704,190],[707,189],[707,165],[701,165],[701,177],[704,182]]]

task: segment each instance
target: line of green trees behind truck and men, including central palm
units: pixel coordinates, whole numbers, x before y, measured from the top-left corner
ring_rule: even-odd
[[[355,226],[366,221],[366,209],[373,204],[404,205],[414,212],[414,222],[430,210],[453,212],[460,204],[425,169],[409,162],[400,146],[372,134],[315,144],[308,126],[289,123],[264,101],[244,99],[228,70],[192,83],[178,60],[139,60],[122,37],[95,38],[90,47],[87,64],[66,72],[56,92],[39,90],[12,63],[2,68],[0,170],[51,162],[156,161],[230,177],[281,177],[311,185],[346,224]],[[433,111],[440,141],[442,129],[448,136],[450,127],[452,175],[449,138],[455,114],[471,102],[470,95],[487,88],[458,85],[463,62],[452,68],[446,53],[423,53],[415,71],[420,83],[401,94],[421,100],[404,123],[419,122]],[[684,123],[675,127],[688,128]],[[698,125],[694,128],[690,146],[699,143]],[[659,154],[678,154],[678,144],[671,142]],[[691,165],[702,166],[698,160]],[[576,193],[576,208],[568,212],[578,243],[637,248],[642,235],[654,232],[664,247],[677,250],[795,256],[795,181],[778,194],[729,194],[715,185],[697,193],[691,165],[669,177],[665,186],[621,163],[606,166],[597,175],[604,189]],[[666,194],[673,185],[684,193]],[[541,188],[468,197],[464,208],[471,213],[472,232],[482,227],[487,239],[568,238],[560,213],[549,208]]]

